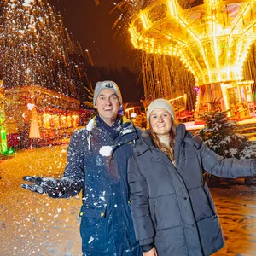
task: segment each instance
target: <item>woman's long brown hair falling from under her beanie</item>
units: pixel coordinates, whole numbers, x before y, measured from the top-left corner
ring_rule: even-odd
[[[170,148],[171,149],[166,148],[166,145],[164,145],[163,143],[160,143],[159,137],[157,137],[152,126],[150,125],[150,119],[148,121],[149,121],[149,132],[153,139],[155,147],[163,151],[170,158],[170,160],[173,161],[174,160],[174,143],[175,143],[176,130],[178,125],[177,120],[172,118],[172,126],[170,130]]]

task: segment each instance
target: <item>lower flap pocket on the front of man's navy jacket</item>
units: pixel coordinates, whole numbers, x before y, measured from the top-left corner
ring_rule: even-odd
[[[106,207],[88,207],[83,205],[79,216],[81,219],[80,235],[83,251],[105,251],[107,249]]]

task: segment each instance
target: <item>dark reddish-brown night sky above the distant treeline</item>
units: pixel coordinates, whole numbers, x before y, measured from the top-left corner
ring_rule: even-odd
[[[73,39],[88,49],[96,66],[130,67],[135,69],[134,55],[131,55],[130,38],[120,33],[114,37],[112,30],[118,14],[109,14],[113,9],[111,0],[49,0],[55,10],[61,12],[64,26]]]

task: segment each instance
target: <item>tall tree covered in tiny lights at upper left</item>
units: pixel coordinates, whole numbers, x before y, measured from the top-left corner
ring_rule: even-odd
[[[83,55],[47,0],[0,0],[0,70],[5,88],[39,85],[66,96],[83,88]]]

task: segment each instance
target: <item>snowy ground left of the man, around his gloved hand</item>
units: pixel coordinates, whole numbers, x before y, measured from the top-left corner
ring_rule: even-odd
[[[0,255],[81,255],[79,196],[51,199],[20,188],[24,175],[60,177],[66,149],[20,151],[0,163]]]

